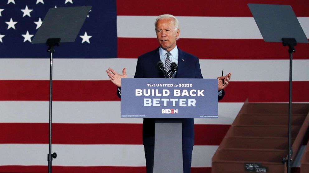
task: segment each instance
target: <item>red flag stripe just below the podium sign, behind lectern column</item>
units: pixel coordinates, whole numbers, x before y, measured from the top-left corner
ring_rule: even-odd
[[[195,144],[219,145],[229,127],[195,125]],[[53,123],[52,129],[53,144],[142,144],[142,124]],[[48,123],[1,123],[0,131],[0,144],[48,144]]]

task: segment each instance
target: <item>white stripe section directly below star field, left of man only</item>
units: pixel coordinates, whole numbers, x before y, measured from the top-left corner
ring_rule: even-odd
[[[54,80],[109,80],[106,70],[122,73],[127,67],[128,76],[134,76],[137,59],[57,59],[53,60]],[[49,80],[50,60],[0,59],[0,80]]]

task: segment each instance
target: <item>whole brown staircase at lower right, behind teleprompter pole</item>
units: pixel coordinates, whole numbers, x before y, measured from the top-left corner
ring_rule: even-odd
[[[309,104],[292,104],[292,144],[303,139],[305,133],[298,134],[308,112]],[[294,146],[292,159],[299,147]],[[246,169],[256,167],[261,172],[283,173],[287,151],[288,104],[246,102],[212,157],[212,173],[248,173]]]

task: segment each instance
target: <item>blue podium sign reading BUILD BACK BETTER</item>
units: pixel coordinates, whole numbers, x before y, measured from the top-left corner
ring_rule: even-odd
[[[122,118],[218,118],[218,79],[122,78]]]

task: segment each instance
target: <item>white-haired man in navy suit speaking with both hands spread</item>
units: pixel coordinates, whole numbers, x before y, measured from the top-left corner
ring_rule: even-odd
[[[199,60],[196,56],[180,50],[176,45],[179,39],[180,29],[178,20],[172,15],[160,15],[155,21],[155,31],[160,47],[141,55],[137,59],[134,78],[164,78],[164,73],[157,69],[156,64],[162,61],[164,64],[175,62],[178,70],[175,78],[203,78]],[[110,80],[118,87],[117,95],[121,95],[121,78],[126,78],[126,68],[122,75],[113,69],[107,70]],[[224,96],[224,88],[228,86],[231,73],[225,77],[218,77],[218,99]],[[223,85],[224,81],[224,85]],[[194,122],[193,118],[182,119],[183,139],[183,171],[190,173],[192,150],[194,145]],[[153,172],[154,164],[154,118],[144,118],[143,121],[143,144],[146,157],[147,173]]]

